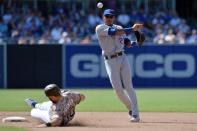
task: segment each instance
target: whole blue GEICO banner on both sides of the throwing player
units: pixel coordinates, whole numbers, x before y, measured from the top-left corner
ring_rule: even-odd
[[[136,87],[197,87],[197,46],[126,49]],[[98,45],[67,45],[65,87],[111,87]]]

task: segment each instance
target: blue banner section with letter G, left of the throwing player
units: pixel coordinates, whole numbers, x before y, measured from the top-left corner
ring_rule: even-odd
[[[65,46],[66,87],[110,87],[99,46]]]

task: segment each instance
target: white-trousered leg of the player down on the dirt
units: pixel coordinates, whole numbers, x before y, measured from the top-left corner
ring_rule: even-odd
[[[31,116],[36,118],[44,123],[50,122],[49,111],[47,110],[40,110],[37,108],[33,108],[31,110]]]

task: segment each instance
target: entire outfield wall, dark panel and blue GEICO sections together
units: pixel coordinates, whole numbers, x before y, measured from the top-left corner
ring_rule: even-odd
[[[98,45],[5,47],[0,46],[1,88],[43,88],[49,83],[64,88],[111,87]],[[195,45],[148,45],[126,49],[134,86],[196,88],[196,50]]]

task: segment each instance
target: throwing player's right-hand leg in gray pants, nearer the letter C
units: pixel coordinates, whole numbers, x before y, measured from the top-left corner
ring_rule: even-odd
[[[132,83],[131,69],[130,69],[129,61],[126,56],[124,57],[124,60],[123,60],[121,78],[122,78],[123,86],[131,101],[132,115],[139,116],[137,97],[136,97],[136,93],[135,93],[135,90],[133,88],[133,83]]]

